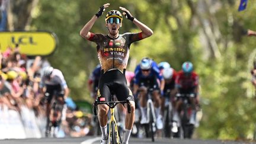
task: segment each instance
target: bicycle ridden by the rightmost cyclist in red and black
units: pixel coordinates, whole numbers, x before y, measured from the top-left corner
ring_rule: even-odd
[[[181,121],[181,128],[179,129],[180,136],[184,138],[191,138],[194,125],[189,124],[190,117],[191,117],[191,105],[188,103],[190,97],[195,97],[194,94],[180,94],[178,93],[176,97],[181,97],[183,99],[183,104],[181,105],[181,112],[180,112],[180,121]]]

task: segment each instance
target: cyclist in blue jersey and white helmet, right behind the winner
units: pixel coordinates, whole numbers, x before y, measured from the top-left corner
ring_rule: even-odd
[[[159,87],[160,81],[160,87]],[[140,112],[142,114],[142,119],[140,124],[145,124],[146,119],[146,94],[149,89],[153,89],[152,97],[155,101],[155,111],[156,111],[156,127],[162,129],[162,115],[161,115],[161,94],[164,90],[164,79],[160,75],[158,65],[152,59],[144,57],[140,64],[137,65],[135,69],[135,81],[133,86],[133,94],[138,95],[140,103]],[[160,90],[160,91],[159,91]]]

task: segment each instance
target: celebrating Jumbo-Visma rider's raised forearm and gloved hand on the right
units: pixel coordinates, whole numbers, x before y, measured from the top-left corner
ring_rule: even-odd
[[[139,20],[134,18],[126,8],[123,8],[123,7],[119,7],[119,8],[123,11],[123,15],[128,20],[131,20],[135,25],[137,25],[137,27],[140,28],[140,30],[142,30],[142,38],[143,39],[145,39],[146,37],[149,37],[153,34],[153,31],[151,30],[151,28],[149,28],[147,25],[141,23]]]

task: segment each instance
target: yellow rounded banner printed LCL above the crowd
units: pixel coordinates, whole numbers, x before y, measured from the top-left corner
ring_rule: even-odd
[[[57,37],[47,31],[2,31],[0,32],[0,49],[19,44],[20,53],[28,56],[47,56],[52,54],[57,46]]]

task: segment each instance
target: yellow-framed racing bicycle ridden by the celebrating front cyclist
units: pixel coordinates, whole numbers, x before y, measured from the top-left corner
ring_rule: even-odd
[[[98,104],[107,104],[108,107],[110,107],[110,121],[109,121],[109,129],[108,129],[108,143],[111,144],[121,144],[121,137],[120,137],[120,133],[119,133],[119,129],[117,126],[117,121],[115,118],[115,107],[117,104],[127,104],[127,110],[128,113],[130,113],[130,102],[129,100],[126,101],[114,101],[114,96],[111,95],[111,101],[109,102],[100,102],[98,103],[97,100],[94,101],[94,115],[97,116],[97,105]]]

